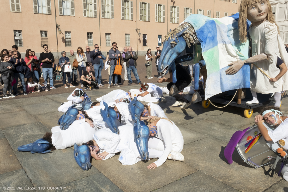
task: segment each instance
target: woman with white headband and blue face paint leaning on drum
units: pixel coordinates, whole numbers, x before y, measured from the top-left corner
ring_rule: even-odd
[[[268,130],[263,125],[264,121],[276,128]],[[284,149],[288,150],[288,116],[283,116],[279,107],[266,107],[255,117],[255,123],[266,141],[279,142]],[[283,167],[281,173],[283,179],[288,181],[288,164]]]

